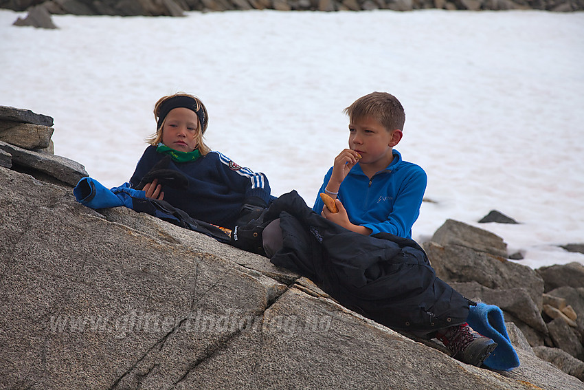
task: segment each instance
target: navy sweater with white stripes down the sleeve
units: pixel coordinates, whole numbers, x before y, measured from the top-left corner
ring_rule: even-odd
[[[144,151],[130,179],[135,188],[152,167],[164,158],[156,147]],[[170,162],[169,169],[181,172],[188,179],[188,189],[165,186],[164,200],[186,211],[190,217],[223,228],[232,229],[241,206],[255,198],[267,205],[272,197],[267,177],[239,166],[225,155],[212,151],[192,162]]]

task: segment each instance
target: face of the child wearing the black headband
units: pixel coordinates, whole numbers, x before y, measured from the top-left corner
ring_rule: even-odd
[[[175,151],[192,152],[197,147],[199,118],[191,109],[171,109],[162,127],[162,143]]]

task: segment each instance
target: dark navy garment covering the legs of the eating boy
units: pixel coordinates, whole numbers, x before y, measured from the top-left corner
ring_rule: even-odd
[[[308,208],[295,191],[278,197],[246,228],[253,232],[260,224],[261,230],[276,218],[284,245],[270,261],[308,277],[341,305],[409,332],[431,334],[467,321],[474,303],[436,277],[416,241],[351,232]]]

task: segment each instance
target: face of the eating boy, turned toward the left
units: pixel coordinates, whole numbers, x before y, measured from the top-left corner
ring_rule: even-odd
[[[349,122],[349,148],[361,155],[361,167],[370,166],[377,171],[385,169],[393,160],[392,149],[401,136],[401,130],[388,131],[371,117]]]

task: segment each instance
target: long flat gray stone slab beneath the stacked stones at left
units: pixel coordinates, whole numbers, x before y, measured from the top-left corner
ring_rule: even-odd
[[[0,149],[12,155],[12,168],[20,166],[25,173],[38,175],[43,179],[53,177],[58,182],[76,186],[83,177],[87,177],[85,167],[59,155],[37,153],[0,141]]]

